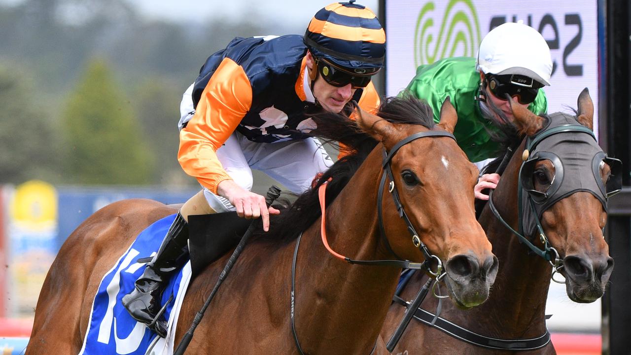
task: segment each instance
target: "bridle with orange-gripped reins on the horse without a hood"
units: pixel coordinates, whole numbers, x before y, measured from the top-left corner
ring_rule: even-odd
[[[398,143],[394,145],[394,147],[392,147],[390,152],[387,152],[386,148],[384,147],[383,161],[382,161],[382,169],[384,170],[384,173],[382,174],[381,181],[379,183],[379,192],[377,193],[377,215],[379,218],[380,236],[382,240],[384,241],[384,243],[386,244],[387,250],[390,253],[392,253],[392,255],[394,255],[397,258],[397,260],[354,260],[354,259],[348,258],[347,256],[343,256],[339,253],[336,253],[336,251],[331,249],[326,239],[326,226],[325,226],[326,215],[324,214],[325,212],[324,208],[326,206],[324,197],[326,195],[327,183],[324,182],[319,186],[318,194],[320,197],[320,206],[322,209],[322,217],[321,217],[322,243],[324,244],[326,249],[329,251],[329,253],[331,253],[331,255],[333,255],[334,257],[338,259],[344,260],[345,262],[348,262],[350,264],[392,266],[392,267],[398,267],[398,268],[412,268],[415,270],[422,270],[423,268],[425,268],[425,270],[427,270],[427,273],[430,274],[433,278],[437,280],[442,278],[442,275],[444,275],[442,262],[440,261],[440,258],[438,256],[435,256],[432,253],[430,253],[425,243],[423,243],[423,241],[421,241],[421,239],[419,238],[418,233],[416,232],[414,226],[412,225],[412,223],[410,222],[410,219],[408,218],[408,215],[405,213],[403,209],[403,204],[401,204],[401,199],[399,198],[399,193],[396,190],[396,186],[394,184],[394,176],[392,175],[392,168],[391,168],[392,157],[399,150],[399,148],[403,147],[403,145],[406,145],[410,143],[411,141],[417,140],[419,138],[440,137],[440,136],[446,136],[446,137],[452,138],[454,141],[456,140],[456,137],[454,135],[446,131],[423,131],[423,132],[418,132],[413,135],[410,135],[404,138],[403,140],[399,141]],[[390,180],[390,183],[388,185],[388,191],[392,194],[392,198],[394,199],[394,205],[396,206],[397,211],[399,212],[399,217],[401,217],[405,221],[406,225],[408,226],[408,232],[410,232],[412,244],[423,253],[423,257],[425,258],[425,261],[422,263],[413,263],[408,260],[401,260],[401,258],[399,258],[399,256],[397,256],[396,253],[394,253],[394,251],[392,250],[386,238],[386,231],[384,229],[384,224],[382,220],[382,207],[381,207],[382,202],[383,202],[384,188],[386,186],[386,178]],[[298,247],[300,246],[301,238],[302,238],[302,233],[300,233],[300,235],[298,236],[296,240],[296,247],[293,252],[293,260],[292,260],[291,324],[292,324],[293,339],[295,340],[296,347],[298,349],[298,354],[304,355],[305,353],[302,351],[302,347],[300,347],[300,342],[298,341],[298,335],[296,334],[295,312],[294,312],[296,261],[298,257]],[[437,268],[435,272],[433,272],[430,267],[432,260],[435,260],[437,262]],[[376,343],[375,343],[375,347],[376,347]],[[370,354],[372,354],[375,351],[375,347],[373,347]]]

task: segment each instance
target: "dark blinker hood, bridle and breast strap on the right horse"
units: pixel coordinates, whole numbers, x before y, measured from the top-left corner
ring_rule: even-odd
[[[561,198],[565,196],[569,196],[576,191],[588,191],[588,192],[591,192],[594,196],[596,196],[601,201],[601,203],[603,203],[603,207],[606,211],[607,199],[610,196],[615,195],[615,193],[622,190],[622,187],[621,187],[622,186],[622,166],[621,166],[622,162],[620,162],[620,160],[618,159],[607,157],[607,155],[604,152],[602,152],[602,150],[595,143],[596,137],[594,136],[593,131],[591,131],[591,129],[585,126],[582,126],[581,124],[578,124],[578,122],[575,119],[572,119],[572,120],[568,119],[567,116],[569,115],[552,114],[548,116],[548,119],[551,119],[551,118],[557,119],[559,118],[558,115],[563,116],[563,117],[560,117],[561,118],[560,121],[562,121],[562,123],[570,122],[570,124],[557,123],[556,126],[552,128],[550,128],[550,125],[548,125],[546,129],[543,129],[542,131],[538,132],[536,135],[528,136],[526,138],[526,148],[524,150],[524,154],[522,155],[522,164],[519,171],[519,179],[517,181],[517,186],[518,186],[517,194],[519,196],[519,206],[518,206],[519,232],[515,231],[502,218],[497,208],[495,208],[495,205],[493,204],[493,190],[491,190],[489,193],[488,204],[491,211],[493,212],[493,215],[495,215],[495,217],[500,222],[502,222],[502,224],[504,224],[504,226],[507,227],[507,229],[509,229],[510,232],[515,234],[522,243],[526,244],[529,250],[531,250],[536,255],[541,256],[541,258],[543,258],[547,262],[550,262],[550,264],[553,267],[551,279],[554,282],[564,283],[554,278],[554,275],[557,274],[561,270],[561,268],[563,268],[563,260],[558,255],[558,251],[555,250],[555,248],[553,248],[552,246],[550,246],[550,243],[548,241],[548,238],[545,232],[543,231],[543,227],[541,226],[541,221],[539,218],[540,213],[543,213],[543,212],[538,213],[537,209],[539,209],[540,211],[543,211],[544,207],[546,206],[549,207],[551,204],[557,202]],[[591,158],[591,167],[589,167],[591,174],[586,173],[586,175],[589,175],[589,176],[587,178],[584,178],[584,180],[582,181],[588,181],[589,183],[594,183],[594,181],[589,180],[591,179],[591,176],[593,175],[593,178],[596,180],[595,183],[598,186],[595,186],[594,184],[589,185],[587,188],[579,187],[579,186],[572,186],[575,184],[575,181],[572,179],[569,179],[568,185],[562,185],[563,184],[562,182],[563,167],[562,167],[562,159],[559,157],[559,155],[561,157],[563,157],[564,155],[562,153],[557,155],[552,152],[545,152],[545,146],[547,143],[555,143],[558,140],[561,140],[560,136],[558,136],[560,133],[586,133],[587,135],[591,137],[591,139],[593,139],[593,141],[591,140],[589,141],[591,144],[590,145],[591,150],[589,150],[589,153],[585,153],[587,157]],[[536,148],[542,141],[545,141],[546,139],[552,136],[555,136],[555,138],[551,140],[551,142],[546,142],[546,144],[542,145],[544,147],[543,148],[544,151],[533,153],[536,151]],[[588,140],[589,139],[590,138],[588,138]],[[516,147],[509,147],[507,149],[507,152],[505,153],[504,158],[502,159],[502,162],[500,163],[498,169],[495,171],[497,174],[501,175],[502,172],[504,172],[510,159],[513,156],[513,152],[515,148]],[[590,154],[593,154],[593,157]],[[565,156],[567,157],[567,155]],[[534,191],[534,189],[532,188],[528,188],[528,189],[524,188],[524,181],[522,181],[524,177],[526,176],[526,173],[529,172],[528,170],[529,164],[534,165],[536,160],[540,160],[540,159],[550,159],[555,165],[556,171],[560,172],[560,175],[561,175],[558,181],[556,179],[557,176],[555,175],[555,181],[557,181],[557,186],[552,186],[555,183],[554,182],[551,183],[550,189],[546,191],[545,193],[541,193],[540,191]],[[585,162],[586,159],[582,157],[582,161]],[[611,167],[612,176],[614,177],[613,181],[611,181],[611,184],[606,183],[606,185],[604,185],[602,181],[599,179],[599,176],[597,176],[599,162],[601,161],[606,162],[606,164],[609,164]],[[587,167],[583,167],[583,169],[587,170]],[[561,187],[560,185],[562,185],[563,187]],[[522,196],[524,195],[527,198],[526,202],[528,203],[528,209],[529,209],[526,211],[524,211],[524,207],[523,207],[524,203],[522,203],[523,202]],[[535,207],[537,203],[538,205],[537,207]],[[528,215],[525,212],[531,212],[531,213]],[[526,238],[525,234],[527,233],[524,233],[524,219],[526,218],[524,218],[524,216],[534,219],[533,224],[536,228],[536,231],[539,233],[539,238],[540,238],[541,243],[543,244],[543,248],[538,248],[537,246],[534,245],[531,239]],[[403,306],[409,306],[409,303],[406,303],[406,301],[404,301],[403,299],[394,298],[394,301],[399,304],[402,304]],[[432,313],[425,311],[422,308],[416,308],[416,310],[414,311],[414,317],[418,321],[425,323],[426,325],[429,325],[430,327],[438,328],[439,330],[442,330],[443,332],[451,335],[452,337],[455,337],[456,339],[463,340],[464,342],[469,342],[470,344],[475,344],[476,346],[485,347],[487,349],[500,349],[500,350],[507,350],[507,351],[534,350],[534,349],[540,349],[541,347],[546,346],[550,342],[550,333],[547,330],[543,335],[540,335],[539,337],[535,337],[532,339],[495,339],[495,338],[487,337],[485,335],[477,334],[475,332],[472,332],[471,330],[468,330],[459,325],[451,323],[448,320],[445,320],[444,318],[440,318],[438,316],[438,313],[439,312],[437,311],[437,314],[433,315]],[[546,316],[546,318],[548,317]]]

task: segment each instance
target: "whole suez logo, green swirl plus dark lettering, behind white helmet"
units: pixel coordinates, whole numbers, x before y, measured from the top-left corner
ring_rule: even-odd
[[[480,6],[480,3],[477,4]],[[485,8],[488,7],[485,6]],[[475,57],[483,36],[480,35],[481,16],[478,16],[473,1],[450,0],[445,5],[443,13],[435,11],[435,9],[435,3],[429,1],[423,5],[416,18],[413,37],[415,66],[432,64],[446,57]],[[490,31],[506,21],[516,22],[520,18],[523,16],[492,15],[488,22],[488,30]],[[577,64],[579,59],[572,57],[572,53],[582,40],[581,15],[579,13],[565,13],[562,15],[564,27],[561,28],[559,28],[557,18],[546,13],[541,16],[538,23],[533,23],[533,15],[529,14],[524,23],[543,34],[553,54],[553,75],[559,66],[557,59],[555,59],[555,51],[561,49],[561,34],[572,35],[575,33],[574,37],[563,47],[560,64],[565,75],[582,76],[583,65]]]

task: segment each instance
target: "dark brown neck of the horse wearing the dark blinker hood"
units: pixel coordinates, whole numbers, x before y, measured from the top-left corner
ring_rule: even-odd
[[[500,184],[493,191],[493,203],[504,220],[517,230],[517,183],[522,149],[518,149],[507,166]],[[499,271],[487,302],[468,315],[472,329],[502,338],[541,335],[545,329],[545,304],[550,286],[550,265],[529,253],[526,244],[512,234],[490,211],[479,220],[493,244]],[[486,322],[486,323],[485,323]],[[488,334],[491,331],[493,334]]]

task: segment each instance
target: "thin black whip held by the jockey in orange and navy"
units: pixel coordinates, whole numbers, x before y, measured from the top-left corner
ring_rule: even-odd
[[[265,196],[265,202],[267,203],[268,206],[271,205],[272,202],[274,202],[274,200],[278,198],[278,196],[280,196],[280,192],[281,192],[280,188],[276,186],[271,186],[269,188],[268,193]],[[248,239],[250,239],[250,237],[252,236],[252,233],[254,233],[254,230],[256,229],[256,225],[257,225],[256,220],[253,220],[252,223],[250,224],[250,227],[247,229],[247,231],[245,231],[245,234],[241,238],[239,245],[237,245],[237,248],[235,248],[235,251],[232,252],[232,255],[230,256],[230,259],[228,259],[226,266],[223,267],[223,271],[221,271],[221,274],[219,275],[219,279],[217,280],[215,287],[213,287],[213,291],[210,292],[210,296],[208,296],[208,299],[206,299],[204,306],[202,306],[201,310],[199,310],[198,313],[195,315],[193,323],[191,324],[191,328],[189,328],[188,332],[184,334],[184,337],[180,341],[180,344],[177,346],[177,349],[175,350],[174,355],[182,355],[184,354],[184,351],[186,351],[186,348],[189,346],[189,343],[191,343],[191,339],[193,337],[193,333],[195,332],[195,329],[199,325],[199,322],[201,322],[201,319],[204,317],[204,313],[206,313],[206,308],[208,308],[211,301],[213,301],[213,298],[215,298],[215,294],[217,293],[219,287],[223,283],[223,280],[225,280],[226,277],[228,277],[228,274],[230,274],[230,270],[232,270],[232,267],[235,265],[235,262],[237,262],[237,258],[239,258],[239,255],[241,255],[241,252],[244,250],[245,244],[247,243]]]

